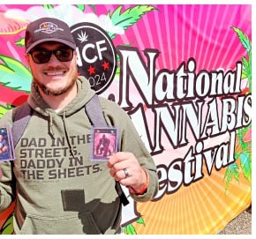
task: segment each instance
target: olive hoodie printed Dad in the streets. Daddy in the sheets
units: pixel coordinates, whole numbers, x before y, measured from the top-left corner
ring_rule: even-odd
[[[16,160],[0,162],[0,213],[16,200],[16,234],[120,232],[122,207],[115,181],[109,176],[106,162],[89,160],[91,123],[85,104],[94,91],[85,78],[79,77],[77,85],[76,98],[57,113],[32,85],[28,103],[33,115],[15,148]],[[108,125],[118,127],[118,150],[132,152],[147,169],[147,191],[132,194],[132,198],[139,202],[151,200],[158,190],[151,155],[124,110],[102,97],[100,102]],[[8,111],[0,125],[11,124],[14,114]]]

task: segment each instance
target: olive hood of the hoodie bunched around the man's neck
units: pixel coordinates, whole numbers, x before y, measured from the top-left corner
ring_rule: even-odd
[[[63,109],[61,109],[57,115],[71,116],[79,108],[83,108],[87,101],[94,96],[94,91],[91,89],[87,78],[79,77],[77,79],[78,93],[77,96]],[[38,92],[36,84],[32,83],[31,94],[28,97],[28,104],[34,111],[42,116],[49,116],[50,113],[55,110],[49,108],[49,105],[43,101],[40,93]]]

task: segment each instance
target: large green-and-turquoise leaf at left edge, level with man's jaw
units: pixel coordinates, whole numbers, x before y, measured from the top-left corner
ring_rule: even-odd
[[[23,63],[9,56],[0,55],[0,83],[15,91],[30,92],[32,75]]]

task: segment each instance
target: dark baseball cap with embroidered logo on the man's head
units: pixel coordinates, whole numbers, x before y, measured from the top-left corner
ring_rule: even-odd
[[[53,18],[37,19],[26,26],[26,54],[42,42],[57,41],[76,49],[70,27],[62,20]]]

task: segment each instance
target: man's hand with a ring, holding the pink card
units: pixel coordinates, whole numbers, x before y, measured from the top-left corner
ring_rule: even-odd
[[[140,167],[133,153],[118,152],[109,157],[107,166],[110,176],[135,191],[141,190],[147,183],[147,172]]]

